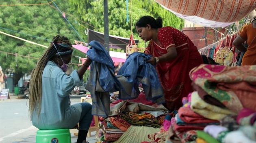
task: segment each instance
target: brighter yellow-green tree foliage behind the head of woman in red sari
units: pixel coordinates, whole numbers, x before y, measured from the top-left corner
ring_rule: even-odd
[[[93,25],[92,29],[98,32],[104,32],[104,8],[103,0],[69,0],[71,6],[70,11],[74,11],[80,19]],[[130,18],[132,19],[132,33],[136,39],[140,39],[135,23],[139,17],[151,15],[152,17],[162,17],[164,26],[172,26],[177,29],[182,29],[183,20],[176,17],[170,11],[154,2],[154,0],[132,0],[132,14],[130,15],[129,2],[129,21],[126,21],[126,1],[125,0],[108,0],[108,21],[109,34],[115,36],[130,37]],[[144,43],[141,40],[141,45]]]

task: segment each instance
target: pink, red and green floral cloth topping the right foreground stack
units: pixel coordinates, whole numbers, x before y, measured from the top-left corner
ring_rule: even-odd
[[[233,90],[220,89],[218,84],[247,82],[254,85],[256,83],[256,65],[226,67],[202,64],[190,71],[190,78],[210,96],[223,103],[230,110],[239,113],[243,108],[240,99],[243,98],[240,97],[239,99]],[[247,101],[249,100],[247,99]]]

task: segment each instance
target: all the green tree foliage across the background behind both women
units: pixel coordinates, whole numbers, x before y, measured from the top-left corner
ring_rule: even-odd
[[[0,0],[0,4],[38,4],[47,2],[50,2],[50,0]],[[98,32],[104,32],[103,0],[56,0],[54,2],[61,10],[74,15],[69,16],[66,14],[66,17],[85,42],[87,42],[87,35],[85,34],[87,27]],[[53,3],[51,5],[54,6]],[[178,29],[183,26],[183,21],[180,18],[165,10],[153,0],[132,0],[132,17],[130,15],[130,5],[129,2],[129,22],[127,22],[126,1],[108,0],[109,34],[129,38],[130,18],[132,18],[132,32],[135,39],[140,39],[135,29],[135,23],[143,15],[162,17],[164,26],[173,26]],[[78,19],[89,23],[93,27],[82,23]],[[1,6],[0,31],[45,46],[48,46],[56,35],[64,35],[72,41],[80,40],[59,11],[49,5]],[[144,47],[144,42],[141,41],[140,43],[139,47]],[[41,46],[0,34],[0,51],[39,58],[45,49]],[[112,50],[121,51],[120,49]],[[76,55],[85,57],[85,54],[78,50],[75,50],[73,55],[72,63],[78,63]],[[30,74],[36,63],[37,59],[0,52],[0,66],[4,71],[12,71],[14,74],[21,75]],[[73,67],[76,69],[77,65],[73,65]]]

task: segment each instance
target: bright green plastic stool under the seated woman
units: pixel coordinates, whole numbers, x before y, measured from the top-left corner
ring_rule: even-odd
[[[69,129],[37,130],[36,143],[71,143]]]

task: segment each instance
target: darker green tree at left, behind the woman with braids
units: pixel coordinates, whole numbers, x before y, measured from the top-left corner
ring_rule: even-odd
[[[47,0],[40,0],[40,2],[37,0],[23,0],[22,4],[47,2]],[[17,0],[0,0],[0,3],[17,4]],[[67,7],[68,3],[64,3],[62,6]],[[52,38],[56,35],[64,35],[70,39],[78,40],[78,36],[65,23],[61,14],[48,5],[1,6],[0,31],[46,46],[50,44]],[[39,58],[45,49],[0,34],[0,51]],[[84,57],[85,55],[78,51],[75,51],[74,54],[80,57]],[[73,62],[78,63],[78,59],[73,58]],[[15,85],[24,74],[30,74],[36,63],[37,59],[0,52],[0,66],[4,69],[5,74],[14,74]]]

